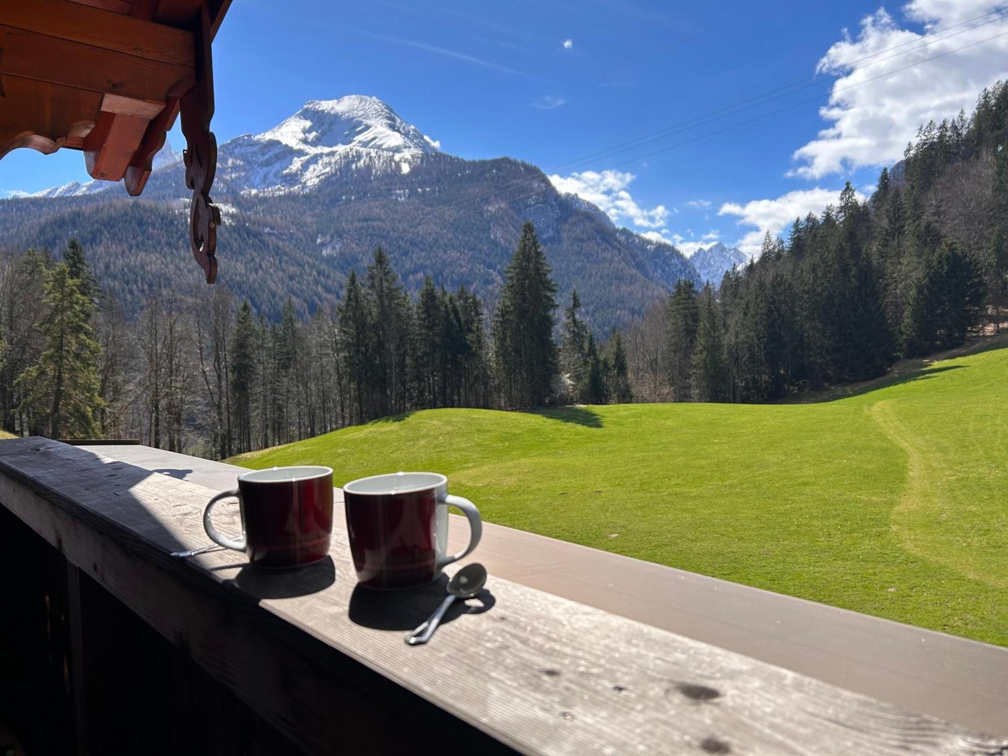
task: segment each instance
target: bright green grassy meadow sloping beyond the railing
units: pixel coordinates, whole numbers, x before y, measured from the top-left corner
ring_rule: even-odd
[[[1008,348],[836,401],[431,410],[236,460],[448,474],[484,517],[1008,645]]]

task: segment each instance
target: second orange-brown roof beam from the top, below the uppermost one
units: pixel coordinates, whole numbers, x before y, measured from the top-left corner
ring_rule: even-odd
[[[148,60],[3,24],[0,47],[0,74],[136,100],[164,102],[196,82],[192,65]]]

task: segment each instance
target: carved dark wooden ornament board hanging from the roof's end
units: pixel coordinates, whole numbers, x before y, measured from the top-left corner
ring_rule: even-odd
[[[217,279],[217,227],[221,211],[210,190],[217,172],[217,137],[210,130],[214,117],[214,69],[211,55],[210,10],[204,5],[194,30],[196,41],[196,86],[182,95],[179,106],[185,136],[185,185],[193,190],[190,209],[190,246],[207,274],[207,283]]]

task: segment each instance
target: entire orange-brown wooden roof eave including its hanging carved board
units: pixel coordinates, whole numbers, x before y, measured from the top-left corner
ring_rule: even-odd
[[[81,149],[139,195],[182,113],[193,253],[216,277],[211,40],[230,0],[8,0],[0,5],[0,158]],[[188,123],[188,125],[186,125]],[[192,158],[192,159],[191,159]],[[192,164],[191,164],[192,163]]]

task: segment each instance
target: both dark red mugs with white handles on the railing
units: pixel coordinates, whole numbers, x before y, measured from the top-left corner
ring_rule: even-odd
[[[368,588],[410,588],[430,583],[446,564],[480,542],[480,511],[452,496],[437,473],[374,475],[343,487],[347,530],[357,578]],[[228,538],[211,521],[214,505],[237,498],[242,535]],[[448,553],[448,508],[469,519],[469,545]],[[326,557],[333,532],[333,471],[301,466],[256,470],[238,476],[238,488],[207,504],[203,523],[212,540],[248,555],[262,568],[312,564]]]

